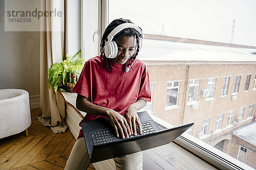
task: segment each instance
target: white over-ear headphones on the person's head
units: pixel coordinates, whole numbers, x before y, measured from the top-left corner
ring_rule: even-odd
[[[120,24],[119,26],[114,28],[113,31],[111,31],[111,33],[108,35],[108,41],[105,43],[105,46],[104,46],[104,52],[105,52],[105,56],[107,58],[115,58],[116,57],[116,55],[118,53],[118,49],[117,49],[116,42],[112,41],[112,40],[113,40],[113,37],[117,33],[119,33],[120,31],[122,31],[125,28],[136,29],[142,35],[142,38],[144,38],[144,35],[143,35],[141,29],[138,26],[136,26],[134,23]],[[140,40],[140,42],[141,42],[141,40]],[[141,45],[140,45],[140,47],[141,47]]]

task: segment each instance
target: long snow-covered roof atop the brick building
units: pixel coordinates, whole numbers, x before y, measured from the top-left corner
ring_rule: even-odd
[[[143,39],[138,58],[156,61],[256,61],[253,48]]]

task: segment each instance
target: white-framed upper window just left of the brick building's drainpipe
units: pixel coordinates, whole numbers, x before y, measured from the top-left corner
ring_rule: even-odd
[[[168,82],[167,85],[167,98],[166,98],[166,107],[177,105],[178,94],[179,94],[179,81]]]

